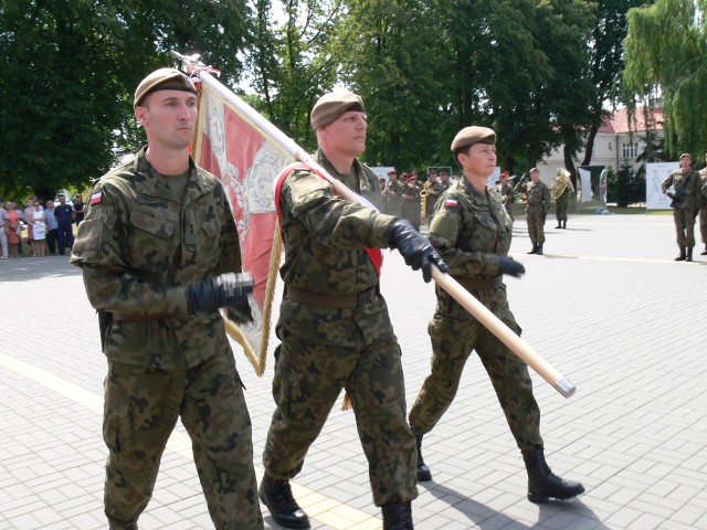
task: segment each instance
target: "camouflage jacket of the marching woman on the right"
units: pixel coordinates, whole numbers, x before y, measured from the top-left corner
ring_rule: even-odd
[[[441,198],[428,237],[450,267],[449,274],[464,279],[490,279],[500,274],[498,256],[508,254],[513,220],[493,188],[476,190],[462,177]],[[436,287],[437,307],[457,304]],[[467,315],[461,308],[462,315]]]

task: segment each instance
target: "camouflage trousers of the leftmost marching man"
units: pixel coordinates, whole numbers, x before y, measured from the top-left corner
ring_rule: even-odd
[[[105,511],[113,528],[137,521],[152,495],[177,420],[191,437],[218,530],[260,530],[251,418],[231,351],[184,371],[108,361],[103,433],[109,449]]]

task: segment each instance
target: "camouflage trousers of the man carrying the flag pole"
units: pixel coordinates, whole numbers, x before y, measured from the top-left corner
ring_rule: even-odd
[[[416,498],[415,438],[405,420],[400,347],[382,297],[360,310],[316,311],[285,300],[277,337],[277,407],[263,453],[267,474],[288,480],[302,470],[309,446],[346,389],[374,504]]]

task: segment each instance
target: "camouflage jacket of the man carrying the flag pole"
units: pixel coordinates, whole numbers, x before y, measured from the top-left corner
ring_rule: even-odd
[[[380,183],[371,169],[355,161],[351,174],[339,174],[320,150],[317,161],[380,206]],[[279,205],[285,246],[279,274],[286,284],[329,295],[352,295],[378,285],[365,248],[390,246],[383,232],[392,216],[339,198],[326,180],[309,171],[287,176]]]

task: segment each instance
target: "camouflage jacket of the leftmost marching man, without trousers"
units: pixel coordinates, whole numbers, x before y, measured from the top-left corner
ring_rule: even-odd
[[[184,285],[241,271],[223,188],[193,160],[190,167],[181,200],[145,149],[94,186],[71,263],[83,269],[91,305],[123,316],[102,326],[113,360],[177,370],[230,349],[219,311],[187,309]]]

